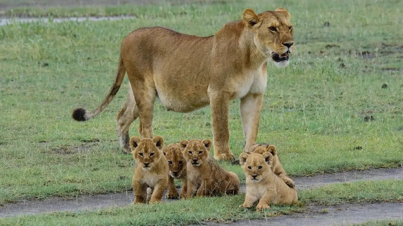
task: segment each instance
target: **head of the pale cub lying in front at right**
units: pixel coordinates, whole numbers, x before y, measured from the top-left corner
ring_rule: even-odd
[[[272,173],[273,156],[270,152],[262,154],[242,153],[239,156],[239,164],[241,164],[243,173],[245,173],[246,181],[257,183],[265,179]]]

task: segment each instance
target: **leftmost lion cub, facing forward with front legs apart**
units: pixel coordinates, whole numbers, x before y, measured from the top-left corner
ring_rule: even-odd
[[[147,187],[152,189],[150,203],[160,202],[168,185],[168,163],[162,154],[164,139],[156,136],[153,139],[130,138],[130,148],[136,160],[133,176],[134,203],[147,202]]]

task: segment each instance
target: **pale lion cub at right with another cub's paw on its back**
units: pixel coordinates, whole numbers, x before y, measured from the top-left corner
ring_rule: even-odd
[[[256,211],[261,211],[269,209],[270,204],[297,203],[297,190],[287,186],[273,173],[273,156],[270,152],[265,152],[263,155],[242,153],[239,162],[246,176],[245,202],[239,207],[251,208],[259,201]]]

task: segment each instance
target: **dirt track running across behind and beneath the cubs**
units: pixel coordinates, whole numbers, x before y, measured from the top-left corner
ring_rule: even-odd
[[[345,171],[312,177],[293,178],[298,189],[319,187],[330,183],[357,180],[403,179],[403,168],[381,168],[366,171]],[[245,185],[241,187],[245,191]],[[43,200],[25,200],[6,203],[0,207],[0,217],[41,214],[58,211],[97,210],[106,207],[123,206],[133,202],[133,193],[111,193],[102,195],[81,195],[75,198],[51,197]]]

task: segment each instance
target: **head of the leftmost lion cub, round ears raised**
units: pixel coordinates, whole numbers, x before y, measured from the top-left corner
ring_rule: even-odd
[[[153,139],[140,139],[137,136],[130,138],[130,149],[133,158],[144,170],[150,170],[160,160],[163,148],[165,147],[162,136],[156,136]]]

